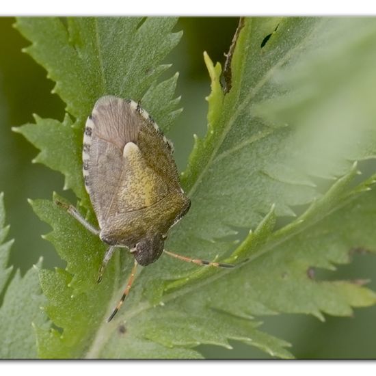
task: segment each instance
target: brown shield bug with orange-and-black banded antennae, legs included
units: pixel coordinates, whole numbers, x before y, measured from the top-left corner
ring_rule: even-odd
[[[82,155],[85,188],[100,229],[81,217],[74,206],[66,210],[109,245],[98,282],[116,247],[128,248],[135,257],[122,298],[107,321],[129,293],[137,265],[154,263],[163,252],[199,265],[234,266],[164,250],[167,231],[191,205],[180,187],[172,153],[171,142],[139,104],[115,96],[96,101],[86,121]]]

